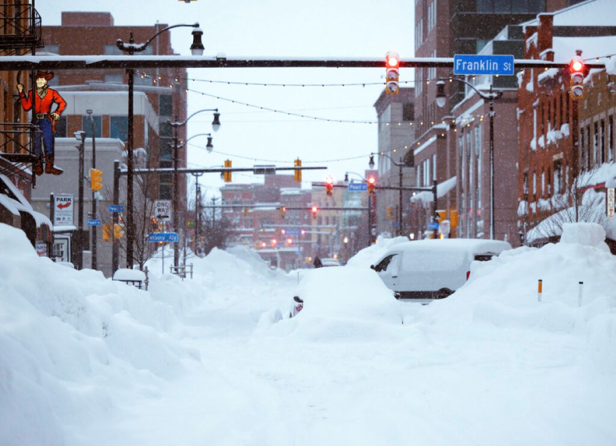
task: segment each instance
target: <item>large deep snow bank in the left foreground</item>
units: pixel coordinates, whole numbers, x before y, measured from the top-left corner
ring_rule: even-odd
[[[0,444],[79,443],[65,438],[66,423],[108,418],[112,395],[176,376],[198,357],[172,336],[172,305],[40,258],[8,225],[0,247]],[[168,299],[181,306],[177,290]]]

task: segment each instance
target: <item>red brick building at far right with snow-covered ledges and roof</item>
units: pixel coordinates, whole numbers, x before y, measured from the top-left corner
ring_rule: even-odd
[[[526,58],[567,61],[576,50],[582,58],[604,55],[616,45],[616,27],[607,18],[612,13],[613,2],[595,0],[540,14],[525,26]],[[594,173],[614,159],[614,80],[614,73],[593,70],[584,98],[574,100],[568,70],[519,73],[517,213],[526,243],[554,240],[564,221],[587,219],[582,208],[577,216],[570,210],[576,199],[581,206],[584,190],[601,190],[605,179]]]

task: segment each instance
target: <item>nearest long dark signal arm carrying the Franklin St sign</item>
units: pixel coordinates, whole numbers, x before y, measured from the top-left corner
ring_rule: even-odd
[[[567,68],[569,62],[515,59],[515,69]],[[452,68],[453,58],[404,58],[400,68],[444,67]],[[605,69],[605,64],[586,64],[591,69]],[[155,68],[385,68],[383,57],[378,58],[217,58],[212,55],[3,55],[0,71],[18,70],[101,70],[101,69],[155,69]]]

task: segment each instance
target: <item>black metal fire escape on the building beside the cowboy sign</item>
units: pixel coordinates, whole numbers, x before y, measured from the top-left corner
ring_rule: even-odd
[[[0,55],[36,54],[36,49],[43,47],[40,14],[34,8],[34,0],[5,0],[0,3]],[[23,77],[23,79],[22,79]],[[18,71],[16,82],[27,86],[28,73]],[[34,79],[34,73],[31,73]],[[15,89],[15,86],[9,86]],[[27,92],[27,88],[25,89]],[[36,160],[34,140],[40,138],[40,131],[32,123],[19,121],[21,103],[19,96],[12,95],[13,116],[17,122],[0,122],[0,173],[7,176],[18,175],[24,169],[31,168]],[[6,102],[6,97],[5,97]],[[9,104],[5,103],[1,121],[10,119]],[[31,175],[33,185],[36,175]]]

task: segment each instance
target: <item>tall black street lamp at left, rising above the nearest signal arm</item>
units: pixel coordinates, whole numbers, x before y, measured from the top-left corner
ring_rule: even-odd
[[[129,55],[133,55],[134,53],[139,53],[144,51],[150,42],[154,40],[162,32],[168,31],[172,28],[177,27],[192,27],[192,45],[190,46],[190,51],[192,55],[203,55],[203,43],[201,42],[201,36],[203,36],[203,31],[199,28],[198,23],[194,23],[192,25],[172,25],[170,27],[166,27],[161,29],[159,32],[154,34],[144,43],[135,43],[133,38],[133,32],[131,32],[131,37],[128,43],[124,43],[122,39],[116,40],[116,46],[127,53]],[[133,122],[133,97],[134,97],[134,85],[135,85],[135,70],[127,69],[128,73],[128,140],[127,140],[127,192],[126,192],[126,229],[127,229],[127,247],[126,247],[126,262],[127,267],[133,267],[133,244],[135,243],[135,227],[133,226],[133,136],[134,136],[134,122]]]

